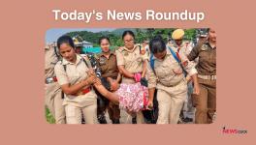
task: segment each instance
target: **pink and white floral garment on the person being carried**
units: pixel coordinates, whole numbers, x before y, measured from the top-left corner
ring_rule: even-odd
[[[129,112],[139,112],[148,102],[148,90],[140,82],[122,83],[116,94],[119,97],[119,108]]]

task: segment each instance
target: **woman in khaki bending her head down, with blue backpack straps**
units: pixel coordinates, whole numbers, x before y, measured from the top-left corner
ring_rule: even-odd
[[[157,88],[157,124],[176,124],[187,96],[187,81],[182,70],[192,77],[195,83],[194,93],[199,94],[197,71],[183,53],[176,53],[177,51],[167,46],[161,37],[151,40],[149,48],[151,56],[146,72],[149,89],[148,107],[153,104],[153,95]]]

